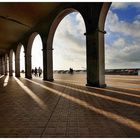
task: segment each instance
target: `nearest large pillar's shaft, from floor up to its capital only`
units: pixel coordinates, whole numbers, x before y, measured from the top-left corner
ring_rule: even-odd
[[[105,87],[104,32],[98,29],[86,33],[87,85]]]

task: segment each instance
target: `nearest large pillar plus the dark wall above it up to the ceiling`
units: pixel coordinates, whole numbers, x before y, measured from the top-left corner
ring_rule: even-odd
[[[98,7],[98,8],[97,8]],[[104,31],[100,28],[102,4],[87,4],[81,11],[86,26],[87,85],[105,87]],[[104,27],[104,22],[102,22]]]

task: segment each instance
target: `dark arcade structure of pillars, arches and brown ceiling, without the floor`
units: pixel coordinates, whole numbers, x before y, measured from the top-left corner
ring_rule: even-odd
[[[0,74],[7,75],[9,72],[12,76],[15,71],[15,76],[20,77],[20,53],[23,46],[25,77],[31,79],[34,67],[32,64],[35,60],[32,48],[34,48],[34,39],[39,36],[42,44],[43,80],[53,81],[55,31],[65,16],[78,12],[83,18],[86,29],[85,33],[82,33],[86,38],[86,84],[105,87],[104,24],[110,4],[107,2],[0,3]],[[36,53],[38,52],[39,50]]]

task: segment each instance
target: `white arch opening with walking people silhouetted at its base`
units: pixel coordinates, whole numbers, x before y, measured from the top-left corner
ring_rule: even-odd
[[[43,51],[42,51],[42,40],[40,35],[37,35],[34,38],[33,44],[32,44],[32,77],[39,77],[43,78]],[[39,75],[39,73],[41,73]]]

